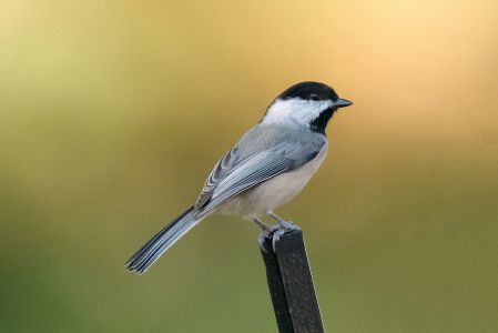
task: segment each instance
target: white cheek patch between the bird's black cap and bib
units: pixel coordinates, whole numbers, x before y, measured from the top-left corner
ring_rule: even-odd
[[[270,105],[262,123],[277,123],[294,127],[309,125],[313,120],[317,119],[323,111],[332,105],[333,102],[331,100],[311,101],[293,98],[283,101],[278,99]]]

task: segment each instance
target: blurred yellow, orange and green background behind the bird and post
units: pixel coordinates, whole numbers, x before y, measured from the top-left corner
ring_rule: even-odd
[[[145,274],[122,265],[306,80],[354,102],[276,210],[304,232],[327,332],[498,332],[497,17],[485,0],[2,1],[2,332],[276,332],[252,222],[210,216]]]

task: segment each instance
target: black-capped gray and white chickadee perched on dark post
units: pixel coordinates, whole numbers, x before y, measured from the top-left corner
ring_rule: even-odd
[[[325,159],[325,129],[333,114],[353,102],[339,99],[327,84],[306,81],[282,92],[261,121],[221,158],[190,209],[146,242],[124,264],[145,272],[171,245],[211,214],[235,214],[254,221],[264,239],[275,243],[285,232],[299,228],[273,210],[287,203],[306,185]],[[263,223],[270,214],[277,225]]]

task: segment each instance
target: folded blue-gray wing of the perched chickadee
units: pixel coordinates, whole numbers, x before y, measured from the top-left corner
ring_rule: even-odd
[[[220,202],[232,198],[278,174],[295,170],[316,158],[324,147],[321,142],[284,141],[271,149],[240,158],[233,148],[217,162],[195,203],[204,215]]]

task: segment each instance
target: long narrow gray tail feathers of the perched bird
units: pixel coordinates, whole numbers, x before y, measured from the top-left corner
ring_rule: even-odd
[[[203,218],[195,220],[194,206],[191,206],[146,242],[124,265],[128,265],[129,271],[142,274],[164,251],[202,220]]]

